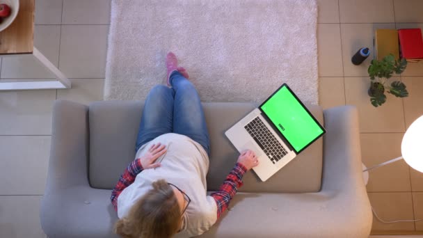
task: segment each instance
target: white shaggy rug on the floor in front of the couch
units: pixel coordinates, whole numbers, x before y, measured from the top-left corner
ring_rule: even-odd
[[[203,102],[318,103],[315,0],[112,0],[105,100],[143,100],[173,51]]]

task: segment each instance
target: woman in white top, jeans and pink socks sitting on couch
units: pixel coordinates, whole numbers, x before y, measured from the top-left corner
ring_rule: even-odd
[[[122,237],[193,237],[216,223],[258,165],[241,153],[220,189],[207,196],[210,143],[200,97],[175,54],[166,57],[168,86],[155,86],[145,100],[136,158],[120,176],[111,202]]]

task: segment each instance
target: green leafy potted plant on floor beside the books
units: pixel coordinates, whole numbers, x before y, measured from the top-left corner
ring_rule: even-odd
[[[408,91],[406,85],[401,81],[393,81],[390,85],[386,82],[392,74],[401,74],[406,70],[407,61],[405,58],[395,60],[392,54],[385,56],[382,61],[373,60],[367,72],[369,72],[370,88],[368,90],[370,102],[375,107],[381,106],[386,102],[386,93],[396,97],[407,97]]]

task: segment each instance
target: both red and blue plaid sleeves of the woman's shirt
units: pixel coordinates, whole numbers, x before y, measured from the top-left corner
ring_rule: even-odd
[[[230,171],[228,177],[226,177],[225,182],[221,185],[218,191],[212,193],[210,196],[214,198],[217,205],[217,218],[221,216],[226,209],[228,209],[230,200],[237,193],[239,187],[242,186],[242,177],[246,173],[246,167],[240,163],[235,164],[232,171]],[[118,211],[118,196],[122,193],[123,189],[131,185],[138,173],[143,171],[143,166],[141,165],[140,159],[136,159],[129,164],[125,169],[125,172],[120,175],[118,184],[111,192],[111,203],[115,209]]]

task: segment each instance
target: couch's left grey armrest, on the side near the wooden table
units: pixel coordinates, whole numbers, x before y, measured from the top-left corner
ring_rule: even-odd
[[[58,100],[45,194],[74,186],[88,186],[88,106]]]

